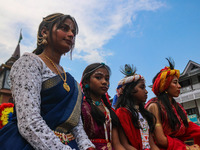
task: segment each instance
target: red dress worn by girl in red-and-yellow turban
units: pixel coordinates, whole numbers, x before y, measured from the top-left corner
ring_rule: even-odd
[[[151,100],[149,100],[147,102],[147,104],[145,105],[145,108],[147,108],[151,103],[159,103],[161,106],[161,117],[167,118],[167,113],[166,113],[165,107],[158,101],[158,98],[152,98]],[[187,115],[184,108],[179,103],[178,103],[178,105],[183,110],[185,115]],[[177,150],[177,149],[185,150],[186,144],[184,143],[184,141],[186,141],[187,139],[191,139],[191,138],[194,139],[195,144],[200,145],[200,126],[198,126],[195,123],[190,121],[189,127],[185,127],[183,124],[183,121],[182,121],[181,117],[178,115],[175,107],[173,105],[171,105],[171,106],[172,106],[172,109],[173,109],[174,113],[176,114],[177,118],[179,119],[181,126],[180,126],[180,128],[178,128],[178,130],[172,131],[169,126],[168,119],[165,119],[163,121],[163,123],[162,123],[163,131],[168,140],[167,150]]]

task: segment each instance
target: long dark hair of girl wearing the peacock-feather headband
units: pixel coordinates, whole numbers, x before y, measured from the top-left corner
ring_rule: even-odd
[[[142,80],[143,79],[139,79],[136,82],[131,82],[131,83],[127,84],[125,86],[125,88],[123,89],[123,94],[121,94],[118,97],[117,106],[116,106],[116,109],[118,109],[120,107],[125,107],[131,112],[132,123],[133,123],[134,127],[138,128],[138,129],[141,128],[140,125],[139,125],[139,122],[138,122],[139,114],[138,114],[138,111],[134,107],[136,105],[136,99],[134,98],[132,93],[133,92],[137,93],[137,91],[136,90],[133,91],[133,89]],[[139,111],[142,114],[142,116],[147,120],[149,127],[150,127],[150,132],[153,132],[154,128],[155,128],[156,118],[154,117],[154,115],[151,112],[147,111],[144,108],[143,103],[139,104]]]

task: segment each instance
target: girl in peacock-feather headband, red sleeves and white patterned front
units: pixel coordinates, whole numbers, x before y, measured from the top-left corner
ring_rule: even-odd
[[[116,114],[120,120],[120,139],[123,146],[130,150],[158,149],[151,132],[154,130],[154,116],[144,109],[147,90],[144,77],[135,74],[133,66],[125,65],[121,70],[126,75],[117,87]]]

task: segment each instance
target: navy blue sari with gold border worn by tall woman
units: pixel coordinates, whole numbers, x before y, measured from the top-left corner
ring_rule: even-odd
[[[41,116],[47,125],[54,131],[68,133],[80,119],[82,93],[79,84],[67,73],[67,84],[70,91],[63,88],[63,81],[55,76],[42,83]],[[20,135],[17,128],[17,118],[14,113],[12,121],[0,130],[1,149],[26,149],[33,147]],[[77,149],[75,140],[68,143]]]

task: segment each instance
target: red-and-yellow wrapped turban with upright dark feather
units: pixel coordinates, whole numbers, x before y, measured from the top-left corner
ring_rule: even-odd
[[[174,69],[174,61],[171,58],[166,59],[168,60],[170,67],[166,66],[161,69],[153,83],[152,91],[156,96],[168,89],[174,75],[177,76],[177,78],[180,76],[180,71]]]

